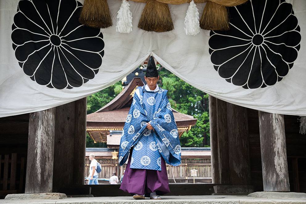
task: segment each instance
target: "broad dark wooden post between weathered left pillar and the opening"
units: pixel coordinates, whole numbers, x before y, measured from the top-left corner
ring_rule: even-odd
[[[84,184],[86,98],[56,107],[53,186]]]

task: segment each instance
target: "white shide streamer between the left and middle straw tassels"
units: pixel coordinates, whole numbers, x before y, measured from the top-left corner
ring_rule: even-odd
[[[120,33],[130,33],[132,29],[132,12],[130,11],[130,3],[122,0],[117,15],[116,31]]]

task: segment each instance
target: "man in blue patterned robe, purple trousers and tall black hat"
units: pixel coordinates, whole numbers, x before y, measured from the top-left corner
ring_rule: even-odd
[[[122,131],[119,165],[128,164],[120,189],[135,199],[161,199],[170,192],[166,164],[181,163],[181,146],[167,90],[159,88],[153,57],[148,62],[147,85],[135,91]]]

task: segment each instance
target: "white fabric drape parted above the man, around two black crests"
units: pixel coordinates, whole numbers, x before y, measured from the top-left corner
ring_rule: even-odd
[[[105,54],[93,79],[73,89],[57,90],[39,85],[23,73],[12,48],[12,24],[18,2],[0,1],[0,117],[45,110],[91,95],[121,80],[150,54],[176,76],[216,98],[271,113],[306,115],[305,1],[292,2],[302,35],[301,48],[292,69],[273,86],[247,90],[226,82],[213,68],[209,31],[201,30],[196,36],[184,33],[188,3],[169,5],[175,29],[155,33],[137,27],[145,4],[133,1],[129,2],[133,14],[132,32],[116,32],[115,26],[101,29]],[[108,3],[112,16],[116,16],[121,1],[109,0]],[[205,3],[197,5],[200,15],[204,6]]]

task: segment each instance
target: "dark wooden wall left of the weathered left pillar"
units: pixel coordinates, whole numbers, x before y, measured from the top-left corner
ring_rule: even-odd
[[[0,199],[24,193],[29,114],[0,118]]]

